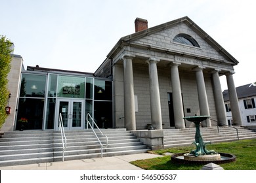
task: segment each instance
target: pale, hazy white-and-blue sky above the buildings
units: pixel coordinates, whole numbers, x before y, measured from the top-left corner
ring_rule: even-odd
[[[256,81],[254,0],[0,0],[0,35],[24,67],[94,73],[121,37],[188,16],[239,63],[236,87]],[[226,77],[221,76],[222,90]]]

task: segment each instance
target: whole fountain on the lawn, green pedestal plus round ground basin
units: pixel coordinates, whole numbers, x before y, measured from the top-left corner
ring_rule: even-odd
[[[228,163],[236,160],[236,156],[226,153],[217,153],[214,150],[207,150],[206,144],[211,144],[211,141],[203,142],[203,136],[200,131],[200,123],[210,116],[189,116],[185,120],[193,122],[196,125],[195,141],[192,144],[196,145],[195,150],[190,153],[179,153],[171,156],[171,160],[178,163]]]

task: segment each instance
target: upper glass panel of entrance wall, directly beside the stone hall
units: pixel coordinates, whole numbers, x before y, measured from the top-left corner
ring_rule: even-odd
[[[112,101],[112,82],[95,80],[95,100]]]

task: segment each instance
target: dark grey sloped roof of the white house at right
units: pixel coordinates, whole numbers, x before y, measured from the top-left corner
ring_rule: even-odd
[[[236,87],[236,93],[238,95],[238,99],[256,96],[256,86],[253,86],[251,84],[238,86]],[[228,90],[223,91],[223,99],[224,101],[229,101]]]

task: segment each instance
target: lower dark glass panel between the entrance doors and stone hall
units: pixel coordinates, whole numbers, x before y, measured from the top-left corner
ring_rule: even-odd
[[[113,127],[112,102],[95,101],[95,122],[100,128]]]

